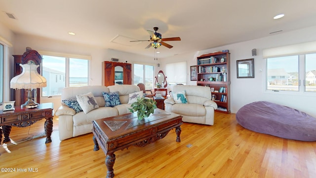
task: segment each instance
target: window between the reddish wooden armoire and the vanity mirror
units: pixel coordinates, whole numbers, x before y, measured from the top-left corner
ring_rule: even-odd
[[[154,89],[154,66],[134,64],[134,84],[145,84],[145,89]]]

